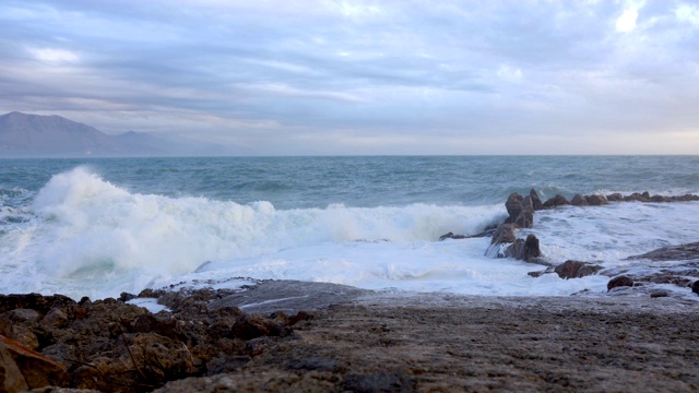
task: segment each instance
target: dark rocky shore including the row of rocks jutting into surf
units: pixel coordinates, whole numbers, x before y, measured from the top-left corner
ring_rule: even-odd
[[[249,278],[238,289],[94,301],[0,295],[0,392],[698,391],[699,299],[647,284],[699,294],[699,243],[630,255],[682,261],[680,270],[639,276],[548,261],[535,235],[518,238],[535,211],[566,203],[690,200],[542,202],[532,190],[510,195],[508,219],[476,235],[491,238],[491,257],[540,266],[534,277],[606,274],[609,296],[467,297]]]

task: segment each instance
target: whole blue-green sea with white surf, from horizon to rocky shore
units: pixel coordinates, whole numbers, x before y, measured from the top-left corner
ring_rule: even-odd
[[[473,235],[511,192],[699,194],[699,156],[416,156],[0,159],[0,293],[104,298],[165,286],[286,278],[483,296],[604,295],[605,275],[534,278]],[[536,212],[554,262],[606,272],[698,241],[699,203]],[[603,273],[605,272],[603,271]],[[688,288],[668,290],[691,295]]]

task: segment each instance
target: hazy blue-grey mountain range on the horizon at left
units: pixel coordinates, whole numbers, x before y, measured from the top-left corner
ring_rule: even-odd
[[[226,155],[226,150],[221,145],[165,139],[144,132],[109,135],[60,116],[16,111],[0,116],[0,158],[192,155]]]

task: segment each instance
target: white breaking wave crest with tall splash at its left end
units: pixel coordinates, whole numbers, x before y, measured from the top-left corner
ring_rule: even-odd
[[[182,274],[202,262],[354,240],[435,240],[475,234],[502,217],[498,205],[276,210],[205,198],[130,193],[85,167],[56,175],[38,192],[40,261],[52,274],[125,271]]]

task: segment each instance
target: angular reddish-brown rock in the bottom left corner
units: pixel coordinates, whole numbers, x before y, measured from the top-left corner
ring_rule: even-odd
[[[68,383],[69,376],[63,365],[2,335],[0,335],[0,359],[2,359],[0,368],[5,370],[2,385],[21,386],[16,390],[8,390],[10,392],[25,390],[24,385],[35,389],[48,385],[64,386]],[[16,374],[16,370],[20,371],[21,377]]]

